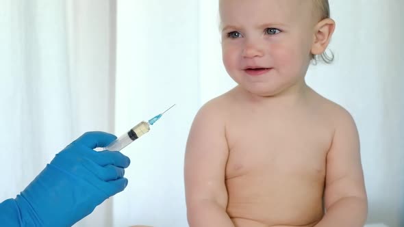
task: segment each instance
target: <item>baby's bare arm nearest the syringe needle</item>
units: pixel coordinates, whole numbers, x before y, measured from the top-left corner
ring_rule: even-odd
[[[225,167],[229,149],[218,103],[207,103],[194,119],[186,146],[185,187],[188,224],[232,226],[226,213]]]

